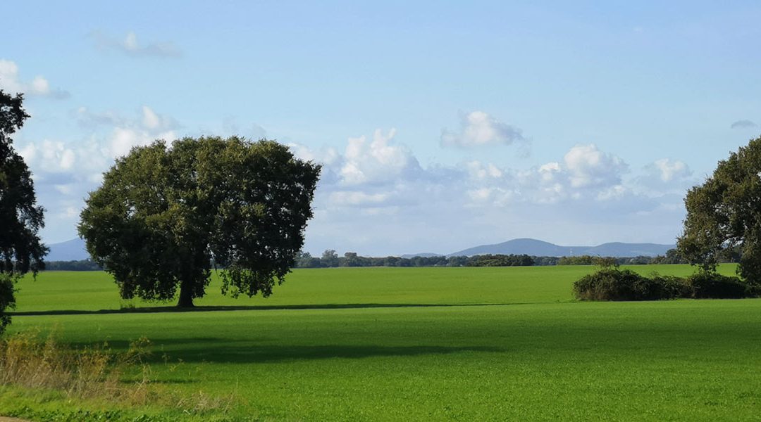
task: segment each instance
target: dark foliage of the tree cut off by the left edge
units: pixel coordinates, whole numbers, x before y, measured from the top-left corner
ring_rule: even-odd
[[[46,247],[40,243],[43,208],[24,159],[13,148],[11,134],[29,118],[22,94],[0,90],[0,333],[10,322],[3,313],[14,304],[13,283],[26,272],[43,269]]]

